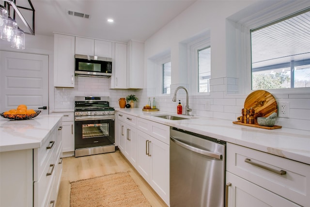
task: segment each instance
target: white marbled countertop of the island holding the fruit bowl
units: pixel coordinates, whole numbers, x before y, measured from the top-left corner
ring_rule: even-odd
[[[44,139],[62,121],[62,115],[43,115],[29,120],[0,117],[0,152],[41,147]]]

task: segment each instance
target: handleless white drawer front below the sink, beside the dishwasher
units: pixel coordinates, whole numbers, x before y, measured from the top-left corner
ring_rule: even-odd
[[[157,140],[170,145],[170,127],[138,117],[137,128]]]

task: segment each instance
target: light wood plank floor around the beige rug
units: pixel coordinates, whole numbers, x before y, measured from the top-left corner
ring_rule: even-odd
[[[64,158],[56,207],[70,207],[70,182],[117,172],[129,172],[153,207],[167,207],[120,151],[79,158]]]

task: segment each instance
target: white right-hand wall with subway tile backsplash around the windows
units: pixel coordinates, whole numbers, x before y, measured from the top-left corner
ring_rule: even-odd
[[[145,42],[146,77],[149,79],[153,77],[154,79],[157,73],[154,65],[150,65],[150,60],[163,51],[170,50],[172,95],[177,86],[190,85],[191,80],[187,79],[188,74],[185,72],[185,70],[187,71],[187,68],[185,69],[187,65],[183,59],[184,54],[182,54],[184,46],[180,43],[210,30],[212,48],[211,93],[210,96],[190,96],[189,106],[193,109],[191,114],[235,121],[238,116],[241,116],[244,101],[251,91],[250,88],[244,90],[244,93],[240,93],[242,90],[238,90],[240,82],[248,82],[248,80],[240,75],[245,71],[238,71],[237,68],[237,65],[242,64],[240,63],[242,53],[233,54],[232,48],[228,48],[235,45],[235,43],[232,44],[232,41],[235,40],[236,35],[236,33],[230,33],[232,25],[227,24],[228,18],[239,14],[240,11],[247,11],[250,14],[251,9],[254,10],[256,5],[263,6],[265,3],[267,1],[262,0],[208,0],[195,2]],[[238,60],[236,60],[237,58]],[[232,63],[235,65],[231,65]],[[148,95],[154,96],[154,85],[146,85],[145,88],[147,90],[143,91],[142,96],[146,100]],[[290,102],[290,118],[278,118],[276,125],[310,130],[310,88],[308,89],[298,94],[272,93],[277,101]],[[157,106],[160,110],[176,112],[177,102],[172,102],[172,95],[156,96]],[[181,99],[183,108],[185,108],[184,93],[178,92],[177,99]]]

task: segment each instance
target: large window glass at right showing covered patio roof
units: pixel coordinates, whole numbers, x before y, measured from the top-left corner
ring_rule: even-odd
[[[310,87],[310,8],[250,34],[253,90]]]

